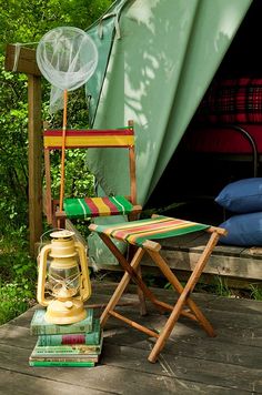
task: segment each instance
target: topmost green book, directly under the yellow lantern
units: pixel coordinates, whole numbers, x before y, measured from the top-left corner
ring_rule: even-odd
[[[87,317],[74,324],[57,325],[48,323],[44,318],[46,310],[36,310],[31,325],[31,335],[56,335],[66,333],[88,333],[92,331],[93,308],[87,308]]]

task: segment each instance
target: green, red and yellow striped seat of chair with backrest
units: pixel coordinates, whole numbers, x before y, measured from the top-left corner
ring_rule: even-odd
[[[64,199],[68,219],[88,219],[108,215],[128,215],[133,205],[124,196]]]

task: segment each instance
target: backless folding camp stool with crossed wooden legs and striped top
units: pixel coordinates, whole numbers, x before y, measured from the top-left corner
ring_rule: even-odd
[[[112,297],[110,298],[107,307],[104,308],[101,315],[100,321],[102,327],[104,327],[108,317],[111,315],[115,318],[123,321],[130,326],[148,334],[149,336],[155,337],[157,342],[148,358],[150,362],[157,361],[159,353],[163,348],[180,315],[184,315],[187,317],[190,317],[191,320],[199,322],[199,324],[204,328],[208,335],[215,336],[212,325],[205,318],[205,316],[200,311],[195,302],[193,302],[190,295],[195,284],[198,283],[198,280],[220,236],[226,234],[226,231],[224,229],[162,215],[153,215],[151,219],[148,220],[138,220],[128,223],[124,222],[113,224],[111,226],[91,224],[89,229],[100,235],[100,237],[111,250],[111,252],[114,254],[114,256],[118,259],[119,263],[124,270],[124,274],[119,285],[117,286]],[[174,273],[170,270],[168,263],[161,256],[161,244],[153,240],[174,237],[199,231],[209,232],[210,237],[202,254],[200,255],[195,267],[192,271],[192,274],[190,275],[190,278],[188,280],[188,283],[183,287],[174,275]],[[115,246],[111,239],[124,241],[131,245],[137,246],[135,253],[131,262],[128,262],[128,260],[119,251],[119,249]],[[179,297],[174,305],[170,305],[168,303],[159,301],[151,292],[151,290],[147,287],[141,276],[138,274],[138,269],[144,252],[147,252],[151,256],[153,262],[161,270],[161,272],[170,282],[170,284],[172,284],[174,290],[178,292]],[[170,312],[169,318],[167,320],[167,323],[160,333],[157,333],[143,325],[140,325],[114,311],[118,301],[120,300],[131,278],[139,285],[145,297],[148,297],[158,310],[160,310],[161,312]],[[187,310],[183,308],[184,305],[187,305]]]

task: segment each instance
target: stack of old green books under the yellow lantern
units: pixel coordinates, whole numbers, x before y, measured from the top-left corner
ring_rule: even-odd
[[[46,321],[46,310],[36,310],[31,335],[37,344],[29,357],[30,366],[94,366],[102,350],[103,332],[93,310],[87,310],[87,318],[69,325],[56,325]]]

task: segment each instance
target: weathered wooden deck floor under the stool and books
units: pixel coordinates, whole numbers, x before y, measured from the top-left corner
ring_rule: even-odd
[[[89,303],[105,303],[115,284],[93,283]],[[157,290],[163,301],[172,291]],[[119,308],[160,328],[164,315],[138,313],[134,286]],[[30,335],[33,308],[0,327],[0,394],[262,394],[262,302],[194,294],[218,336],[210,338],[193,322],[181,318],[160,359],[147,357],[152,338],[110,318],[100,363],[92,368],[30,367],[37,337]],[[132,305],[127,305],[132,303]],[[150,305],[149,305],[150,307]],[[99,315],[101,310],[95,310]]]

